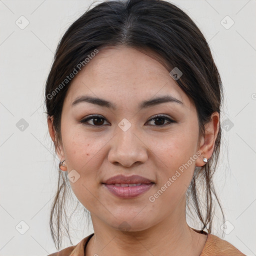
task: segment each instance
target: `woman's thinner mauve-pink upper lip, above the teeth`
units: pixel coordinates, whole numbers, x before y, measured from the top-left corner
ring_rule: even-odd
[[[108,178],[107,180],[103,181],[104,184],[138,184],[138,183],[154,183],[153,181],[149,180],[148,178],[139,176],[139,175],[131,175],[131,176],[124,176],[122,174],[115,175],[113,177]]]

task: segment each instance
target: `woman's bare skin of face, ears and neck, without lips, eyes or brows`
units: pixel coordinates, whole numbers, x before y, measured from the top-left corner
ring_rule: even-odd
[[[88,102],[71,106],[80,95],[106,99],[116,109]],[[172,95],[183,104],[165,102],[139,109],[141,101],[160,95]],[[88,126],[79,122],[91,114],[105,118],[104,122],[97,119],[101,126],[92,119]],[[177,122],[163,119],[160,125],[152,119],[155,114]],[[126,131],[118,126],[123,118],[131,124]],[[61,141],[56,148],[59,159],[65,159],[62,169],[79,173],[70,184],[91,214],[94,235],[86,255],[200,254],[206,235],[187,225],[185,193],[195,166],[204,165],[203,157],[212,155],[218,122],[214,112],[205,125],[205,136],[198,139],[195,106],[160,62],[125,46],[99,50],[68,88],[61,113]],[[50,117],[48,128],[54,141]],[[149,201],[198,151],[201,155],[158,198]],[[141,175],[155,184],[135,198],[121,199],[101,184],[116,174]],[[126,223],[127,231],[121,230],[121,223]]]

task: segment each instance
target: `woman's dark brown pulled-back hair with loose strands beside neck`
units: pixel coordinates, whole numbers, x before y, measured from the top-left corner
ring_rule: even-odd
[[[48,117],[53,117],[55,150],[61,141],[60,116],[70,86],[70,81],[65,79],[74,70],[79,71],[78,63],[85,63],[84,59],[91,52],[107,45],[149,49],[161,58],[168,71],[174,67],[182,71],[182,76],[176,82],[196,107],[198,140],[204,135],[204,125],[210,121],[211,114],[217,111],[220,116],[223,97],[221,79],[207,41],[189,16],[163,0],[105,1],[89,7],[75,20],[57,46],[45,87],[46,113]],[[205,165],[195,167],[188,188],[190,193],[187,193],[187,208],[191,210],[188,202],[192,200],[201,230],[206,228],[208,232],[212,228],[214,200],[221,209],[224,221],[212,182],[219,157],[220,138],[219,125],[213,154]],[[59,170],[57,192],[50,212],[51,236],[57,249],[61,246],[62,213],[64,209],[66,214],[64,203],[68,183],[67,177]],[[200,191],[199,187],[203,187],[203,190]],[[68,228],[65,230],[68,233]],[[70,239],[69,233],[68,237]]]

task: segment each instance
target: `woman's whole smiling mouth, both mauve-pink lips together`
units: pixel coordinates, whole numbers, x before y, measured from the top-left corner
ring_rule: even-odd
[[[137,184],[135,186],[120,186],[120,184]],[[154,182],[151,180],[139,176],[139,175],[116,175],[111,178],[108,178],[106,181],[102,182],[102,185],[108,189],[113,195],[129,199],[134,198],[154,185]]]

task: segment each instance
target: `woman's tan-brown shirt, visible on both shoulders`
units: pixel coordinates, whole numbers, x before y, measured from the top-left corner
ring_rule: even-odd
[[[87,242],[94,233],[84,237],[76,245],[66,247],[47,256],[86,256],[84,255]],[[231,243],[214,234],[207,234],[207,239],[199,256],[246,256]]]

